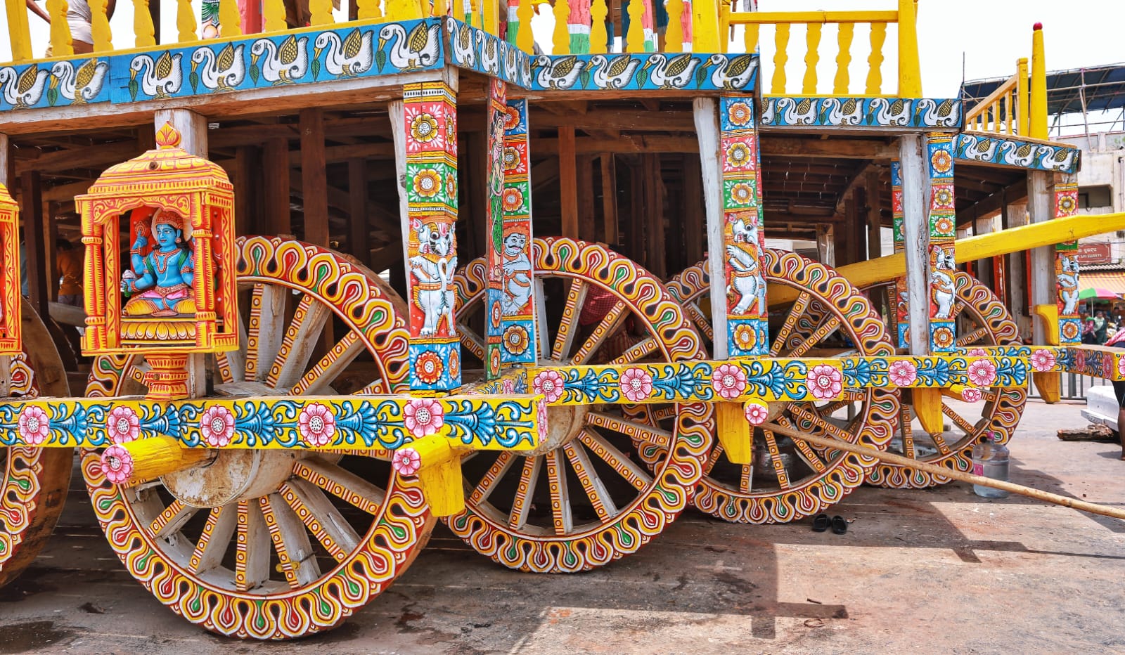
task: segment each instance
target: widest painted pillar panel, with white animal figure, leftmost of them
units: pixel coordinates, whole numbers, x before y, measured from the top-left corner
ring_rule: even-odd
[[[461,385],[453,321],[457,270],[457,100],[444,82],[403,89],[406,204],[410,217],[411,388],[450,392]]]

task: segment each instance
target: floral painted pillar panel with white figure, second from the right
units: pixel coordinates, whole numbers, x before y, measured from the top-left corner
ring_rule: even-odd
[[[929,196],[929,347],[952,352],[956,348],[953,313],[956,304],[954,243],[957,209],[953,194],[953,138],[927,135],[926,154],[932,181]]]

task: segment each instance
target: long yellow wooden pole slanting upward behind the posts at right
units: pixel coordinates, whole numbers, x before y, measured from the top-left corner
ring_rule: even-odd
[[[1069,216],[958,239],[954,257],[957,263],[964,263],[1118,230],[1125,230],[1125,212],[1097,216]],[[894,280],[902,276],[906,269],[906,255],[898,252],[842,266],[836,269],[836,272],[846,277],[856,287],[862,288]],[[770,294],[770,304],[792,303],[796,296],[796,290],[777,289]]]

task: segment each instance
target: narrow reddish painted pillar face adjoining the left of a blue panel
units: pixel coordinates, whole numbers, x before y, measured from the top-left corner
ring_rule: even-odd
[[[488,239],[486,243],[488,261],[488,294],[486,303],[487,325],[485,332],[485,377],[493,379],[501,370],[502,294],[504,272],[501,252],[504,241],[504,213],[501,198],[504,192],[504,124],[507,117],[507,88],[497,78],[488,83]]]

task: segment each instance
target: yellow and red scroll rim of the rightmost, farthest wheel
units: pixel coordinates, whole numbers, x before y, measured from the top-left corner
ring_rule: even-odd
[[[957,271],[956,286],[957,302],[963,304],[964,311],[975,316],[988,331],[988,346],[1019,346],[1022,343],[1019,329],[1012,322],[1008,309],[987,286],[964,271]],[[1019,423],[1019,416],[1023,414],[1024,404],[1027,402],[1027,389],[1023,387],[992,387],[981,391],[986,394],[983,420],[978,420],[969,425],[972,428],[972,434],[957,445],[951,443],[950,446],[954,447],[951,452],[926,458],[927,464],[968,472],[972,468],[972,447],[984,437],[987,431],[994,432],[1004,443],[1011,439],[1016,425]],[[910,416],[903,411],[901,420],[901,424],[907,424]],[[964,427],[957,425],[955,430]],[[947,477],[885,463],[879,463],[867,474],[868,484],[893,488],[926,488],[947,482],[950,482]]]

